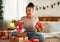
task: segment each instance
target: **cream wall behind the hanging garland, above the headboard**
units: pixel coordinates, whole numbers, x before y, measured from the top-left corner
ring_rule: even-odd
[[[60,0],[59,0],[60,1]],[[27,0],[27,2],[33,2],[35,6],[43,7],[49,6],[49,8],[43,10],[39,9],[38,11],[35,10],[35,16],[60,16],[60,5],[55,5],[54,8],[51,8],[50,5],[53,3],[57,3],[58,0]]]

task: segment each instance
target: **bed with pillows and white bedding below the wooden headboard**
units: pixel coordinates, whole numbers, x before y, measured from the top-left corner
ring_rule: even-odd
[[[60,42],[60,22],[41,22],[44,30],[37,32],[45,36],[45,42]]]

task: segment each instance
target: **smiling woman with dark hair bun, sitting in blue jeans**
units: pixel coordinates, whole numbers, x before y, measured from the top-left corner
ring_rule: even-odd
[[[25,32],[27,32],[29,39],[39,39],[40,42],[44,41],[44,36],[42,34],[37,34],[36,24],[39,21],[37,17],[33,16],[34,4],[29,3],[26,7],[26,16],[22,17],[23,26]]]

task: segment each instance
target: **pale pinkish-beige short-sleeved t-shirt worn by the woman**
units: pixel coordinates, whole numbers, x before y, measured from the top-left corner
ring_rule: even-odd
[[[21,20],[23,21],[23,26],[26,31],[37,31],[36,24],[39,21],[37,17],[33,17],[32,19],[26,18],[26,16],[22,17]]]

